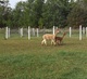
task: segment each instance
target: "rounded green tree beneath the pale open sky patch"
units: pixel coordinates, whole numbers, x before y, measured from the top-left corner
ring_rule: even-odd
[[[25,2],[17,2],[15,9],[12,12],[12,19],[13,19],[13,27],[24,27],[26,26],[26,18],[25,18]]]

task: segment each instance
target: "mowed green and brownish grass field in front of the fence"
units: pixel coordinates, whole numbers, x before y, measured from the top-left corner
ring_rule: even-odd
[[[87,38],[61,45],[41,38],[0,39],[0,79],[87,79]]]

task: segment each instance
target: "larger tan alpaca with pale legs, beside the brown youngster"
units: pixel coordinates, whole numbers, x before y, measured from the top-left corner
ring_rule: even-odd
[[[57,34],[59,32],[59,29],[55,30],[54,35],[52,34],[46,34],[42,36],[42,41],[41,44],[46,44],[47,45],[47,40],[51,40],[51,44],[55,44],[54,42],[54,38],[57,36]]]

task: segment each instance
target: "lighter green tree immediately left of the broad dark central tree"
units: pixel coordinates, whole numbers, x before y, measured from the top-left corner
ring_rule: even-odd
[[[38,27],[41,18],[44,0],[28,0],[27,12],[29,15],[29,25]]]

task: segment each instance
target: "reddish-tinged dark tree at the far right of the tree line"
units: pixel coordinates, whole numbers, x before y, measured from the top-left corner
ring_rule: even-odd
[[[79,25],[83,25],[85,27],[87,25],[87,10],[84,1],[80,1],[74,3],[74,8],[67,16],[69,26],[72,26],[74,28],[77,28]]]

